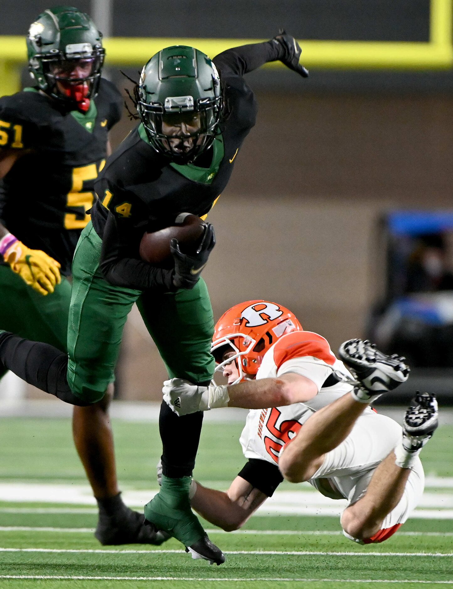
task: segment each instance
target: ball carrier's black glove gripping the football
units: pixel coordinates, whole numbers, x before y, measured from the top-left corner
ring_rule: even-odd
[[[183,254],[179,249],[178,240],[173,238],[170,241],[170,252],[174,259],[174,286],[178,289],[193,289],[215,245],[216,236],[211,223],[206,224],[201,243],[192,255]]]

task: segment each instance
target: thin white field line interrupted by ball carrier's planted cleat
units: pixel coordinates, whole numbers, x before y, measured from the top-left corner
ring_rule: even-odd
[[[49,552],[51,554],[184,554],[181,550],[105,550],[104,548],[0,548],[0,552]],[[312,550],[224,550],[224,554],[257,556],[416,556],[429,558],[453,557],[453,552],[333,552]]]

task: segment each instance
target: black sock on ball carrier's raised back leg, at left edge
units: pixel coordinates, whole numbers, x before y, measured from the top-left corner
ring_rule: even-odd
[[[68,385],[67,354],[48,343],[31,342],[14,333],[0,332],[0,365],[61,401],[71,405],[89,405],[74,395]]]

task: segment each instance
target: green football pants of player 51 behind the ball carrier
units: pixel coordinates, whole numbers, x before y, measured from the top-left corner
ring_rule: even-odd
[[[51,294],[42,296],[9,266],[0,266],[0,329],[67,350],[71,283],[64,276]],[[0,379],[7,371],[0,371]]]

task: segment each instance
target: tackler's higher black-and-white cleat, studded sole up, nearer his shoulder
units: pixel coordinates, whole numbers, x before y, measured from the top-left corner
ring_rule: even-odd
[[[368,339],[350,339],[343,342],[338,350],[340,359],[356,376],[362,401],[373,401],[395,389],[408,379],[409,366],[405,358],[382,353]]]

